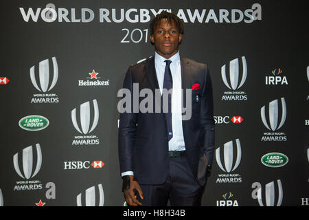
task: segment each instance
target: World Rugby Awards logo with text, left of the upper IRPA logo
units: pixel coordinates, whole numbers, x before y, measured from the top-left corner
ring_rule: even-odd
[[[227,80],[227,70],[226,65],[221,67],[221,76],[223,83],[233,90],[233,91],[225,91],[222,96],[222,100],[247,100],[247,94],[245,91],[236,91],[240,89],[244,82],[247,79],[247,62],[246,58],[242,56],[242,77],[240,80],[240,72],[239,72],[239,61],[238,58],[233,59],[229,62],[229,82]]]

